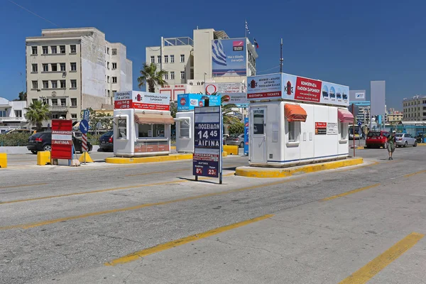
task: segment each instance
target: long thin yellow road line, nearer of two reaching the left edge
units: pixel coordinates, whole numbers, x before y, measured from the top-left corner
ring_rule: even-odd
[[[232,173],[232,175],[234,175],[234,173]],[[226,176],[226,175],[224,175],[224,176]],[[99,215],[104,215],[104,214],[126,212],[126,211],[132,211],[132,210],[136,210],[136,209],[142,209],[142,208],[145,208],[145,207],[154,207],[154,206],[172,204],[172,203],[176,203],[176,202],[185,202],[185,201],[197,200],[197,199],[201,199],[201,198],[204,198],[204,197],[212,197],[212,196],[217,196],[217,195],[226,195],[226,194],[229,194],[229,193],[232,193],[232,192],[241,192],[241,191],[244,191],[244,190],[253,190],[253,189],[256,189],[256,188],[259,188],[259,187],[280,185],[280,184],[283,184],[285,182],[292,182],[292,181],[301,180],[301,179],[302,178],[289,178],[287,180],[280,180],[280,181],[270,182],[270,183],[261,184],[261,185],[252,185],[250,187],[241,187],[241,188],[237,188],[235,190],[226,190],[226,191],[222,191],[222,192],[206,193],[204,195],[195,195],[195,196],[192,196],[192,197],[183,197],[183,198],[180,198],[180,199],[177,199],[177,200],[168,200],[168,201],[156,202],[156,203],[138,204],[138,205],[135,205],[135,206],[132,206],[132,207],[124,207],[124,208],[111,209],[111,210],[105,210],[105,211],[99,211],[99,212],[92,212],[92,213],[87,213],[87,214],[82,214],[82,215],[63,217],[63,218],[58,218],[58,219],[51,219],[51,220],[46,220],[46,221],[42,221],[42,222],[18,224],[18,225],[11,225],[11,226],[0,226],[0,230],[30,229],[30,228],[35,228],[35,227],[38,227],[38,226],[45,226],[45,225],[49,225],[49,224],[55,224],[55,223],[59,223],[59,222],[65,222],[65,221],[76,220],[76,219],[84,219],[84,218],[87,218],[87,217],[99,216]]]

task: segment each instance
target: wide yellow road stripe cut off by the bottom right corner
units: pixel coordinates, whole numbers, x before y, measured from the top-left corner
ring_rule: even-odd
[[[390,249],[382,253],[380,256],[374,258],[372,261],[366,264],[363,268],[350,275],[339,284],[363,284],[371,280],[374,275],[379,273],[383,268],[386,268],[389,264],[393,263],[398,257],[402,256],[405,251],[411,249],[417,241],[420,241],[425,235],[419,233],[411,233],[405,236],[404,239],[398,241],[398,243],[391,246]]]

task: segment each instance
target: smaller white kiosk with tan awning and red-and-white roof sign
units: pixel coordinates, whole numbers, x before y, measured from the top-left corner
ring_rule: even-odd
[[[170,153],[170,97],[148,92],[116,92],[114,155],[138,157]]]

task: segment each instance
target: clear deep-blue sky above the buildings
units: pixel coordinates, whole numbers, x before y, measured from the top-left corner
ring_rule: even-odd
[[[94,26],[124,43],[133,89],[145,47],[160,36],[192,37],[199,26],[244,37],[247,19],[261,74],[279,71],[283,38],[284,72],[366,89],[367,97],[371,80],[386,80],[386,104],[396,109],[404,97],[426,93],[426,1],[14,1],[63,28]],[[25,87],[25,38],[56,26],[8,0],[0,1],[0,18],[0,97],[13,99]]]

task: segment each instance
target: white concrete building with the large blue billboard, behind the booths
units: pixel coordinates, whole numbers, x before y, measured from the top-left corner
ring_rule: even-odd
[[[224,55],[224,65],[231,65],[232,52],[239,53],[241,59],[239,73],[226,72],[223,75],[214,73],[213,40],[222,40],[223,43],[241,43],[234,49],[227,49]],[[229,58],[229,62],[226,60]],[[175,101],[178,94],[204,92],[204,82],[242,82],[246,84],[247,76],[256,75],[256,48],[247,38],[229,38],[224,31],[214,31],[213,28],[197,29],[193,32],[193,39],[161,38],[160,46],[146,48],[146,62],[154,62],[159,68],[167,71],[164,80],[165,87],[156,88],[155,92],[170,94]]]

